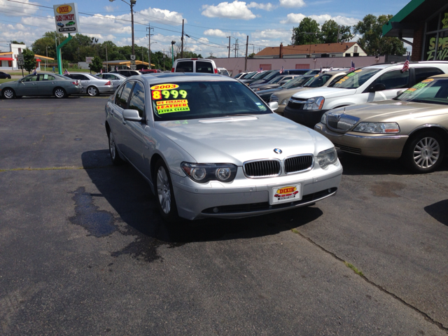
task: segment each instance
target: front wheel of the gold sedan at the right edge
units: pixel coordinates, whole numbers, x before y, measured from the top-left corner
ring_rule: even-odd
[[[444,140],[433,131],[414,135],[405,146],[402,160],[406,167],[417,174],[434,172],[444,157]]]

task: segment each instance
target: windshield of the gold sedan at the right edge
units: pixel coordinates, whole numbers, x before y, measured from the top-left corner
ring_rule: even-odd
[[[448,78],[428,78],[395,97],[402,102],[448,105]]]

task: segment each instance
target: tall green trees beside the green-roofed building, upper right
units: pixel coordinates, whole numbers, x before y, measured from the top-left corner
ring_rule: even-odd
[[[356,34],[362,35],[358,44],[367,55],[404,55],[406,48],[397,37],[383,36],[383,25],[393,15],[365,15],[362,21],[353,26]]]

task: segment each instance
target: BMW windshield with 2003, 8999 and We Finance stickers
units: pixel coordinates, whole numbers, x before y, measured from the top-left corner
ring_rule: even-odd
[[[153,85],[151,97],[155,121],[272,113],[252,90],[234,81]]]

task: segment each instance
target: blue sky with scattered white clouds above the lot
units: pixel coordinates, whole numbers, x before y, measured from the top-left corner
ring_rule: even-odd
[[[8,50],[11,40],[24,41],[28,46],[45,31],[55,30],[52,6],[57,0],[0,0],[0,50]],[[122,0],[78,0],[82,34],[95,36],[100,42],[131,45],[130,6]],[[129,1],[127,1],[129,2]],[[354,25],[367,14],[393,14],[409,1],[366,0],[137,0],[134,6],[134,35],[137,45],[148,46],[146,27],[151,25],[151,50],[168,53],[171,41],[181,41],[182,19],[185,21],[184,49],[202,54],[227,57],[229,39],[232,49],[239,41],[239,55],[290,43],[291,29],[305,17],[321,25],[335,20],[339,25]],[[26,4],[28,3],[28,4]],[[34,4],[38,6],[30,6]],[[47,8],[50,7],[50,8]],[[82,14],[85,13],[85,14]],[[90,15],[89,15],[90,14]],[[95,16],[92,16],[95,15]],[[356,41],[357,37],[353,39]],[[232,50],[232,55],[235,51]]]

